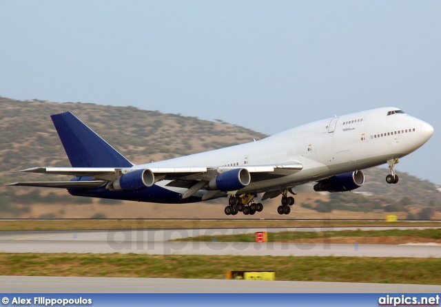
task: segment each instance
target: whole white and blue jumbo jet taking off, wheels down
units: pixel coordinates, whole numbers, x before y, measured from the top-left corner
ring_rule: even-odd
[[[399,159],[424,145],[433,127],[396,107],[334,116],[242,145],[134,165],[71,112],[51,116],[72,167],[21,171],[74,176],[68,181],[14,182],[12,186],[68,189],[71,195],[183,204],[228,198],[226,215],[254,215],[255,202],[282,195],[277,211],[289,214],[294,187],[343,192],[365,182],[362,169],[389,164],[398,183]],[[291,195],[289,195],[291,194]]]

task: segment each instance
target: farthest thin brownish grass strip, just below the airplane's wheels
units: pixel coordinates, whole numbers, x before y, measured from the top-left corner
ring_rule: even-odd
[[[338,220],[2,220],[0,231],[92,229],[296,228],[362,226],[439,226],[441,222],[383,222]]]

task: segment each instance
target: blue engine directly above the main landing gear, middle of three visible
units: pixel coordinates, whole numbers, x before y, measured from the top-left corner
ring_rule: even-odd
[[[247,169],[232,169],[225,171],[210,180],[208,188],[220,191],[236,191],[246,187],[251,182],[251,176]]]

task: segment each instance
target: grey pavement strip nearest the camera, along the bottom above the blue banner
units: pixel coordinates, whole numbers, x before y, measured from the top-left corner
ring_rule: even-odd
[[[441,286],[227,279],[0,276],[2,293],[441,293]]]

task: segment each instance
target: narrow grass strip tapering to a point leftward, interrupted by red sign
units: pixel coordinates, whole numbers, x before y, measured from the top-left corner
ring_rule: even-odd
[[[268,242],[292,242],[300,239],[322,239],[331,237],[424,237],[433,240],[441,240],[441,229],[387,229],[380,231],[282,231],[280,233],[268,233]],[[176,241],[194,242],[255,242],[254,234],[238,235],[201,235],[199,237],[187,237]]]

